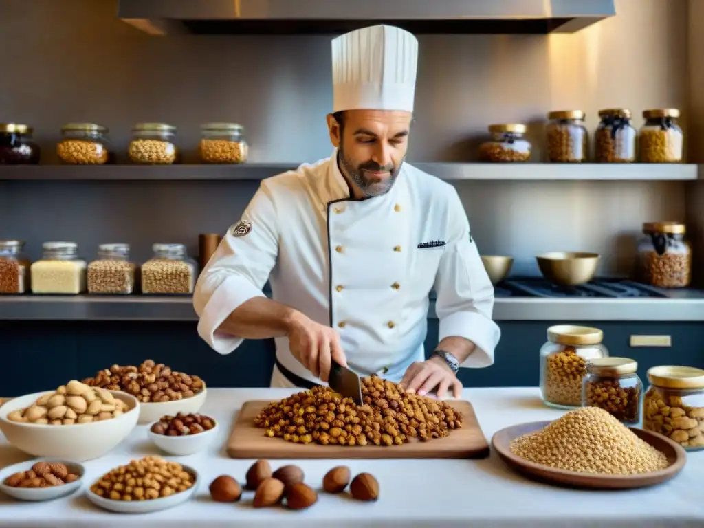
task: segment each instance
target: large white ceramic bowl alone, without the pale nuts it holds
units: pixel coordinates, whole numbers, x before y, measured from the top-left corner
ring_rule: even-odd
[[[120,391],[111,391],[115,398],[127,403],[129,410],[118,417],[100,422],[75,425],[37,425],[8,420],[14,410],[29,407],[44,394],[37,392],[13,398],[0,407],[0,430],[7,441],[30,455],[63,458],[84,462],[99,458],[120,444],[137,425],[139,402],[137,398]]]

